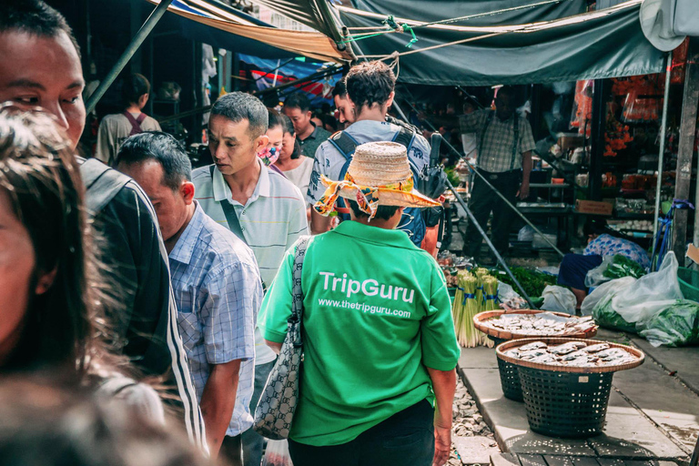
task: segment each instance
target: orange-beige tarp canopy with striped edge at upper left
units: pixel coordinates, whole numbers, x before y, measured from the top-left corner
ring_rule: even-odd
[[[160,3],[160,0],[147,1],[156,5]],[[352,58],[346,52],[340,52],[334,41],[319,32],[290,31],[266,26],[251,16],[233,8],[226,8],[225,5],[218,5],[218,2],[211,0],[176,0],[167,10],[200,25],[285,50],[289,55],[308,56],[316,60],[336,63],[346,62]],[[201,31],[198,32],[201,33]],[[225,42],[224,37],[214,32],[211,32],[210,36],[210,41],[215,45],[233,48],[221,44]],[[270,51],[271,48],[268,48],[267,53],[262,55],[273,56]],[[248,52],[253,53],[252,50]]]

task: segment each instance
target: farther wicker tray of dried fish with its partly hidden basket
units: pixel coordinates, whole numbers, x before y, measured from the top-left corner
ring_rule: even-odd
[[[592,338],[597,326],[592,318],[574,318],[561,312],[531,309],[490,310],[473,318],[476,329],[499,345],[509,339],[532,337]],[[505,398],[523,401],[517,366],[498,359],[502,393]]]

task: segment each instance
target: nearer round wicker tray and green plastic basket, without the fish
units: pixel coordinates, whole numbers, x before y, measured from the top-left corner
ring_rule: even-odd
[[[638,349],[590,339],[536,339],[548,345],[582,341],[587,345],[607,343],[636,356],[637,360],[615,366],[576,368],[539,364],[505,356],[504,351],[518,348],[532,339],[517,339],[502,343],[496,349],[498,362],[503,360],[517,366],[527,419],[532,431],[562,438],[586,438],[600,433],[607,413],[613,373],[633,369],[643,364],[644,355]]]

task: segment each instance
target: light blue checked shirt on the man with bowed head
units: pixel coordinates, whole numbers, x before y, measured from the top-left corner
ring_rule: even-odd
[[[236,436],[252,425],[248,405],[255,379],[254,329],[262,300],[257,261],[245,243],[197,203],[169,262],[177,324],[199,400],[209,364],[242,360],[235,410],[226,432]]]

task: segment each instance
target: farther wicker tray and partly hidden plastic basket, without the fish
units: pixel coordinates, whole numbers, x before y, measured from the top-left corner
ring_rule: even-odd
[[[481,332],[488,335],[488,338],[495,342],[495,346],[510,340],[510,339],[532,339],[541,338],[532,335],[521,335],[517,333],[512,333],[504,330],[496,330],[491,327],[486,327],[483,325],[483,321],[487,319],[492,319],[495,317],[500,317],[502,314],[540,314],[545,312],[543,310],[534,309],[511,309],[511,310],[488,310],[485,312],[480,312],[473,316],[473,325],[476,329],[481,330]],[[573,316],[569,314],[563,314],[562,312],[552,312],[556,316],[561,316],[565,318],[572,318]],[[586,333],[576,333],[570,335],[571,338],[593,338],[597,334],[597,329],[591,329]],[[553,335],[547,335],[550,337]],[[500,382],[502,385],[502,393],[505,398],[515,401],[523,401],[522,397],[522,387],[520,386],[520,374],[517,370],[517,366],[511,362],[507,362],[498,358],[498,369],[500,370]]]

